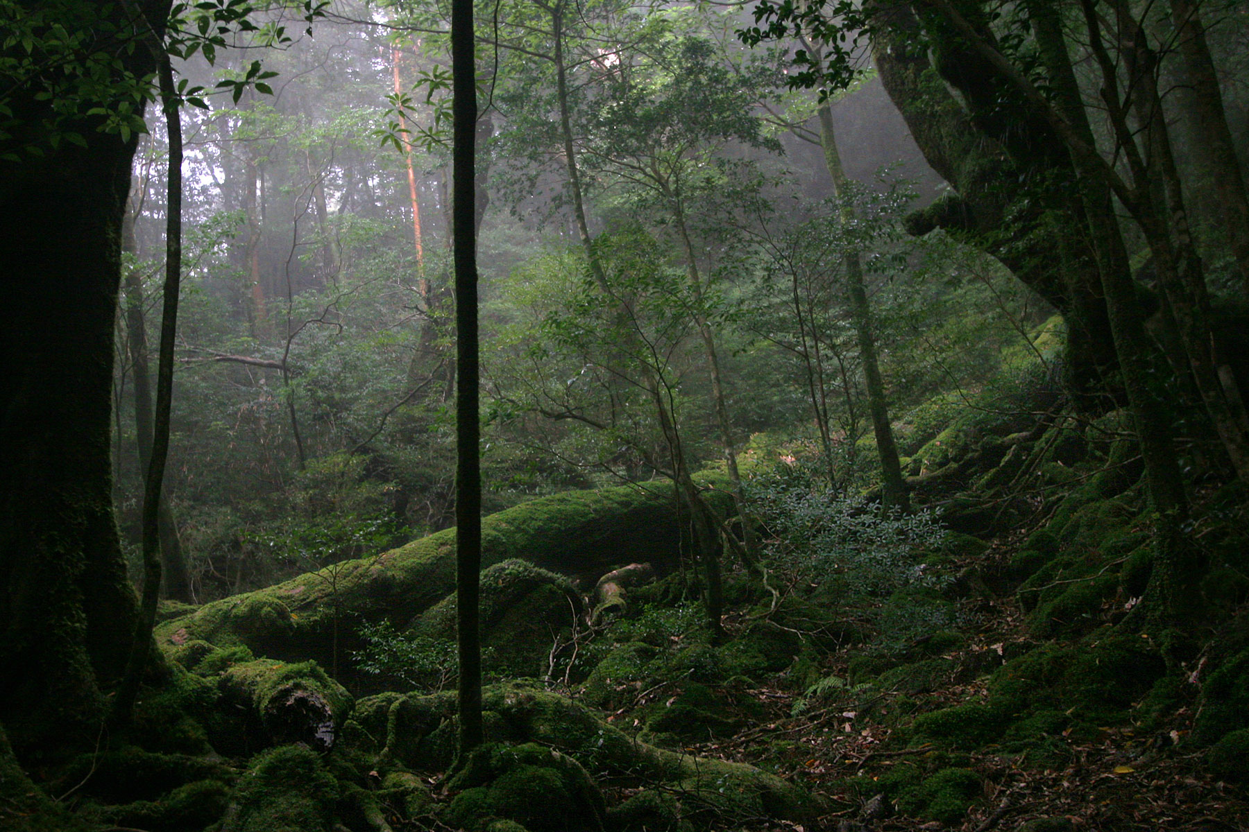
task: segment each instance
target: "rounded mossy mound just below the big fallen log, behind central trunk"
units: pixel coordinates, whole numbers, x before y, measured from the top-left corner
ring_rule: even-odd
[[[571,630],[583,612],[572,581],[516,558],[482,571],[478,609],[491,670],[512,677],[542,675],[552,639]],[[426,610],[408,635],[453,642],[455,595]]]

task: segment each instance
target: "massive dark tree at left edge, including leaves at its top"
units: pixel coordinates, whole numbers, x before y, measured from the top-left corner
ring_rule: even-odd
[[[109,423],[119,243],[159,57],[150,39],[172,32],[170,49],[186,55],[257,29],[237,1],[191,11],[207,14],[202,32],[171,24],[170,11],[162,1],[0,7],[10,32],[0,46],[0,249],[11,299],[0,346],[19,367],[2,422],[0,706],[21,715],[5,726],[19,753],[97,735],[137,625],[111,510]],[[260,74],[254,64],[230,86]]]

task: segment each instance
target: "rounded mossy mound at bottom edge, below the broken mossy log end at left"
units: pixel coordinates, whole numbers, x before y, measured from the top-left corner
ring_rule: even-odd
[[[252,758],[232,796],[237,832],[328,832],[338,785],[302,745],[279,746]]]

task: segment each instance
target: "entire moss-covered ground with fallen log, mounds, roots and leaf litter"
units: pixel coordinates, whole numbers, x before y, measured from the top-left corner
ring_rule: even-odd
[[[37,787],[6,768],[5,828],[1239,828],[1240,486],[1194,494],[1207,606],[1177,631],[1152,612],[1152,516],[1119,412],[1072,413],[1020,360],[899,434],[926,506],[906,516],[832,489],[802,443],[756,439],[768,574],[731,571],[719,644],[662,494],[495,515],[487,743],[466,758],[445,690],[451,533],[171,605],[134,722],[27,766]],[[642,560],[601,605],[596,580]]]

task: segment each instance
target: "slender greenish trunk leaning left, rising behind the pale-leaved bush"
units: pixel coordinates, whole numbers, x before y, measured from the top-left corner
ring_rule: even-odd
[[[833,112],[827,102],[819,105],[819,140],[824,150],[824,165],[833,180],[833,192],[842,201],[842,222],[853,221],[853,208],[847,193],[848,180],[842,167],[842,157],[837,150],[837,133],[833,128]],[[882,508],[886,511],[898,509],[911,510],[907,499],[906,483],[902,479],[902,463],[898,459],[898,445],[893,439],[893,427],[889,423],[889,403],[884,393],[884,379],[881,377],[881,362],[876,352],[876,334],[872,323],[872,306],[867,299],[867,287],[863,281],[863,266],[857,249],[846,253],[846,291],[851,301],[851,319],[858,338],[859,358],[863,362],[863,380],[867,385],[868,410],[872,413],[872,430],[876,434],[877,455],[881,459]]]

